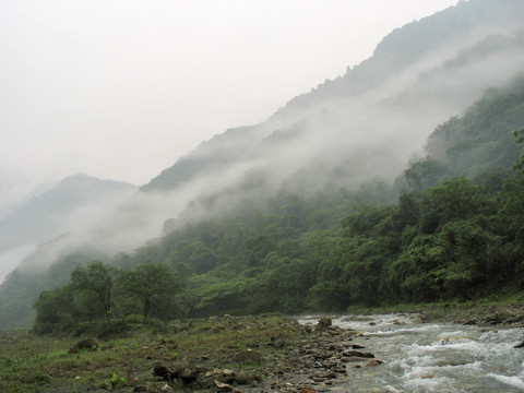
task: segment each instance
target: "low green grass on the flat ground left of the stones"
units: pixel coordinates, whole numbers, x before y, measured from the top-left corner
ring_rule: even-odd
[[[207,372],[227,368],[246,378],[243,383],[274,372],[286,358],[286,348],[295,348],[311,334],[296,321],[277,314],[247,318],[215,318],[158,321],[127,321],[126,330],[105,341],[61,335],[36,336],[27,331],[0,331],[0,391],[29,392],[132,392],[143,386],[162,392],[166,384],[153,370],[158,365],[191,365],[199,374],[196,388],[209,390],[219,377]],[[135,318],[134,318],[135,319]],[[107,323],[107,321],[106,321]],[[275,346],[278,337],[285,345]],[[264,361],[238,362],[234,355],[253,348]],[[239,382],[240,383],[240,382]],[[171,386],[176,385],[170,382]],[[177,390],[195,388],[176,385]]]

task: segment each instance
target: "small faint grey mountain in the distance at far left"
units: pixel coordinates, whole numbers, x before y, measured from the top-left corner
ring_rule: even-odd
[[[13,269],[16,259],[20,262],[36,245],[95,224],[136,189],[79,174],[25,202],[0,221],[0,276],[7,273],[5,264]]]

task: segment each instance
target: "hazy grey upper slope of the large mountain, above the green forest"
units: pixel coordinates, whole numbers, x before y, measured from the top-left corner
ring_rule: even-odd
[[[524,72],[522,14],[522,1],[471,0],[397,28],[345,75],[293,98],[264,123],[216,135],[142,191],[202,181],[198,199],[243,183],[250,170],[273,189],[354,187],[361,174],[389,178],[438,121]],[[369,165],[371,155],[388,165]]]

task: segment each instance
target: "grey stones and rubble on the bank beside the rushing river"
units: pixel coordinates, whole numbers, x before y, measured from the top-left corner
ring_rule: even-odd
[[[314,326],[298,325],[289,320],[286,324],[287,329],[295,331],[293,336],[298,340],[288,341],[281,332],[269,343],[260,343],[259,349],[238,352],[231,359],[223,359],[226,362],[233,360],[235,366],[231,368],[211,369],[202,361],[195,360],[191,365],[189,359],[184,365],[155,366],[156,378],[167,383],[160,386],[160,391],[183,385],[202,392],[329,392],[343,381],[349,367],[382,364],[364,346],[353,343],[358,332],[334,326],[329,318],[322,318]],[[260,350],[264,345],[272,349]],[[212,362],[211,358],[205,360]],[[135,391],[153,392],[154,389],[141,386]]]

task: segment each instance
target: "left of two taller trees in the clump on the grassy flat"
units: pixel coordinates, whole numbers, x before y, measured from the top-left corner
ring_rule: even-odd
[[[111,291],[114,286],[114,269],[99,261],[90,263],[86,267],[76,266],[71,272],[71,283],[76,290],[83,290],[93,296],[109,318],[111,309]]]

